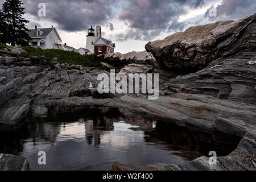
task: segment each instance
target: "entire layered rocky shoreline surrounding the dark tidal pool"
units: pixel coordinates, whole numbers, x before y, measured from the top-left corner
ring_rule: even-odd
[[[0,123],[14,125],[28,115],[46,116],[52,107],[117,107],[243,139],[214,166],[202,156],[175,165],[115,163],[113,170],[255,170],[255,40],[256,14],[235,22],[189,28],[148,43],[148,52],[106,55],[108,65],[101,69],[48,63],[44,57],[20,57],[22,50],[7,47],[2,51],[5,56],[0,57]],[[125,67],[122,73],[159,73],[158,100],[147,100],[145,94],[98,94],[97,76],[109,74],[109,65]]]

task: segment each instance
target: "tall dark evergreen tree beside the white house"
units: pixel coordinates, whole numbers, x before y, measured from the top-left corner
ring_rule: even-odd
[[[12,46],[15,46],[15,44],[26,46],[28,41],[31,40],[26,32],[28,29],[25,25],[29,21],[22,18],[25,13],[22,5],[23,3],[19,0],[6,0],[2,5],[3,18],[6,22],[6,42]]]

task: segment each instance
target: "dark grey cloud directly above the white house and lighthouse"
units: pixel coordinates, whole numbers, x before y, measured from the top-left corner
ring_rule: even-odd
[[[0,0],[2,1],[2,0]],[[83,31],[90,26],[105,24],[112,18],[110,5],[118,0],[22,0],[26,13],[38,20],[57,23],[61,30]],[[46,17],[38,16],[39,3],[46,3]]]

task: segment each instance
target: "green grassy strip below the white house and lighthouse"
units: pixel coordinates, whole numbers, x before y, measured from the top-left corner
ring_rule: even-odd
[[[31,56],[46,56],[44,59],[49,61],[56,61],[59,63],[68,63],[75,65],[83,65],[89,67],[98,67],[100,66],[102,57],[97,55],[80,55],[77,52],[63,51],[60,49],[46,49],[34,47],[22,47],[27,53],[23,53],[22,56],[31,57]],[[57,58],[54,60],[53,58]]]

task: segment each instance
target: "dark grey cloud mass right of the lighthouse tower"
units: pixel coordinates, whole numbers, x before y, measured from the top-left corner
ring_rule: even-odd
[[[129,24],[130,30],[126,35],[117,35],[117,38],[150,40],[167,28],[181,31],[184,24],[177,19],[186,13],[185,7],[203,4],[203,0],[130,0],[119,15],[119,19]]]

